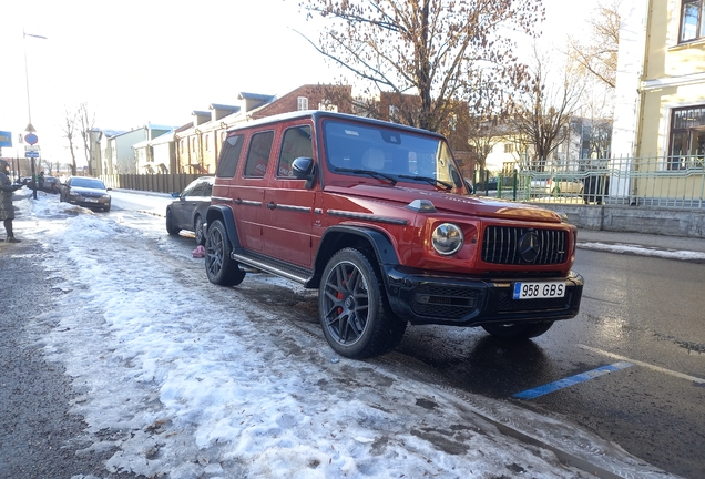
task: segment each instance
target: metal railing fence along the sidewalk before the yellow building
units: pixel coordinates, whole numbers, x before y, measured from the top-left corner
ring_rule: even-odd
[[[479,195],[525,202],[705,207],[702,156],[564,161],[499,175],[494,192],[478,186]]]

